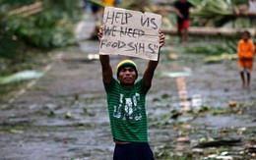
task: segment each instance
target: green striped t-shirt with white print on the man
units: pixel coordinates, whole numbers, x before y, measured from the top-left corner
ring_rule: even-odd
[[[114,78],[104,84],[108,114],[114,139],[122,141],[148,141],[148,124],[145,108],[146,94],[150,88],[138,80],[126,88]]]

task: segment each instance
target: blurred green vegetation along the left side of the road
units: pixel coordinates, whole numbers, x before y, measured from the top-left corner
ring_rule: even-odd
[[[79,0],[0,1],[0,100],[19,87],[20,78],[6,84],[7,77],[36,70],[50,50],[75,44],[74,24],[82,12]]]

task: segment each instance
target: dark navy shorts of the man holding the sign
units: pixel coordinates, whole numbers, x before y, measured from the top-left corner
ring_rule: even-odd
[[[115,144],[113,160],[154,160],[154,154],[148,142]]]

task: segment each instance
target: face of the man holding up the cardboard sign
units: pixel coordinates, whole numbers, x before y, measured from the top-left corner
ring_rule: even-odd
[[[124,67],[119,72],[118,80],[124,86],[133,85],[136,79],[136,72],[132,67]]]

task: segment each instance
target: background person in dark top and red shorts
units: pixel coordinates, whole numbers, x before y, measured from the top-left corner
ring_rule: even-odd
[[[187,0],[177,0],[174,3],[175,12],[177,14],[177,31],[179,42],[188,41],[188,27],[189,27],[189,9],[193,5]]]

